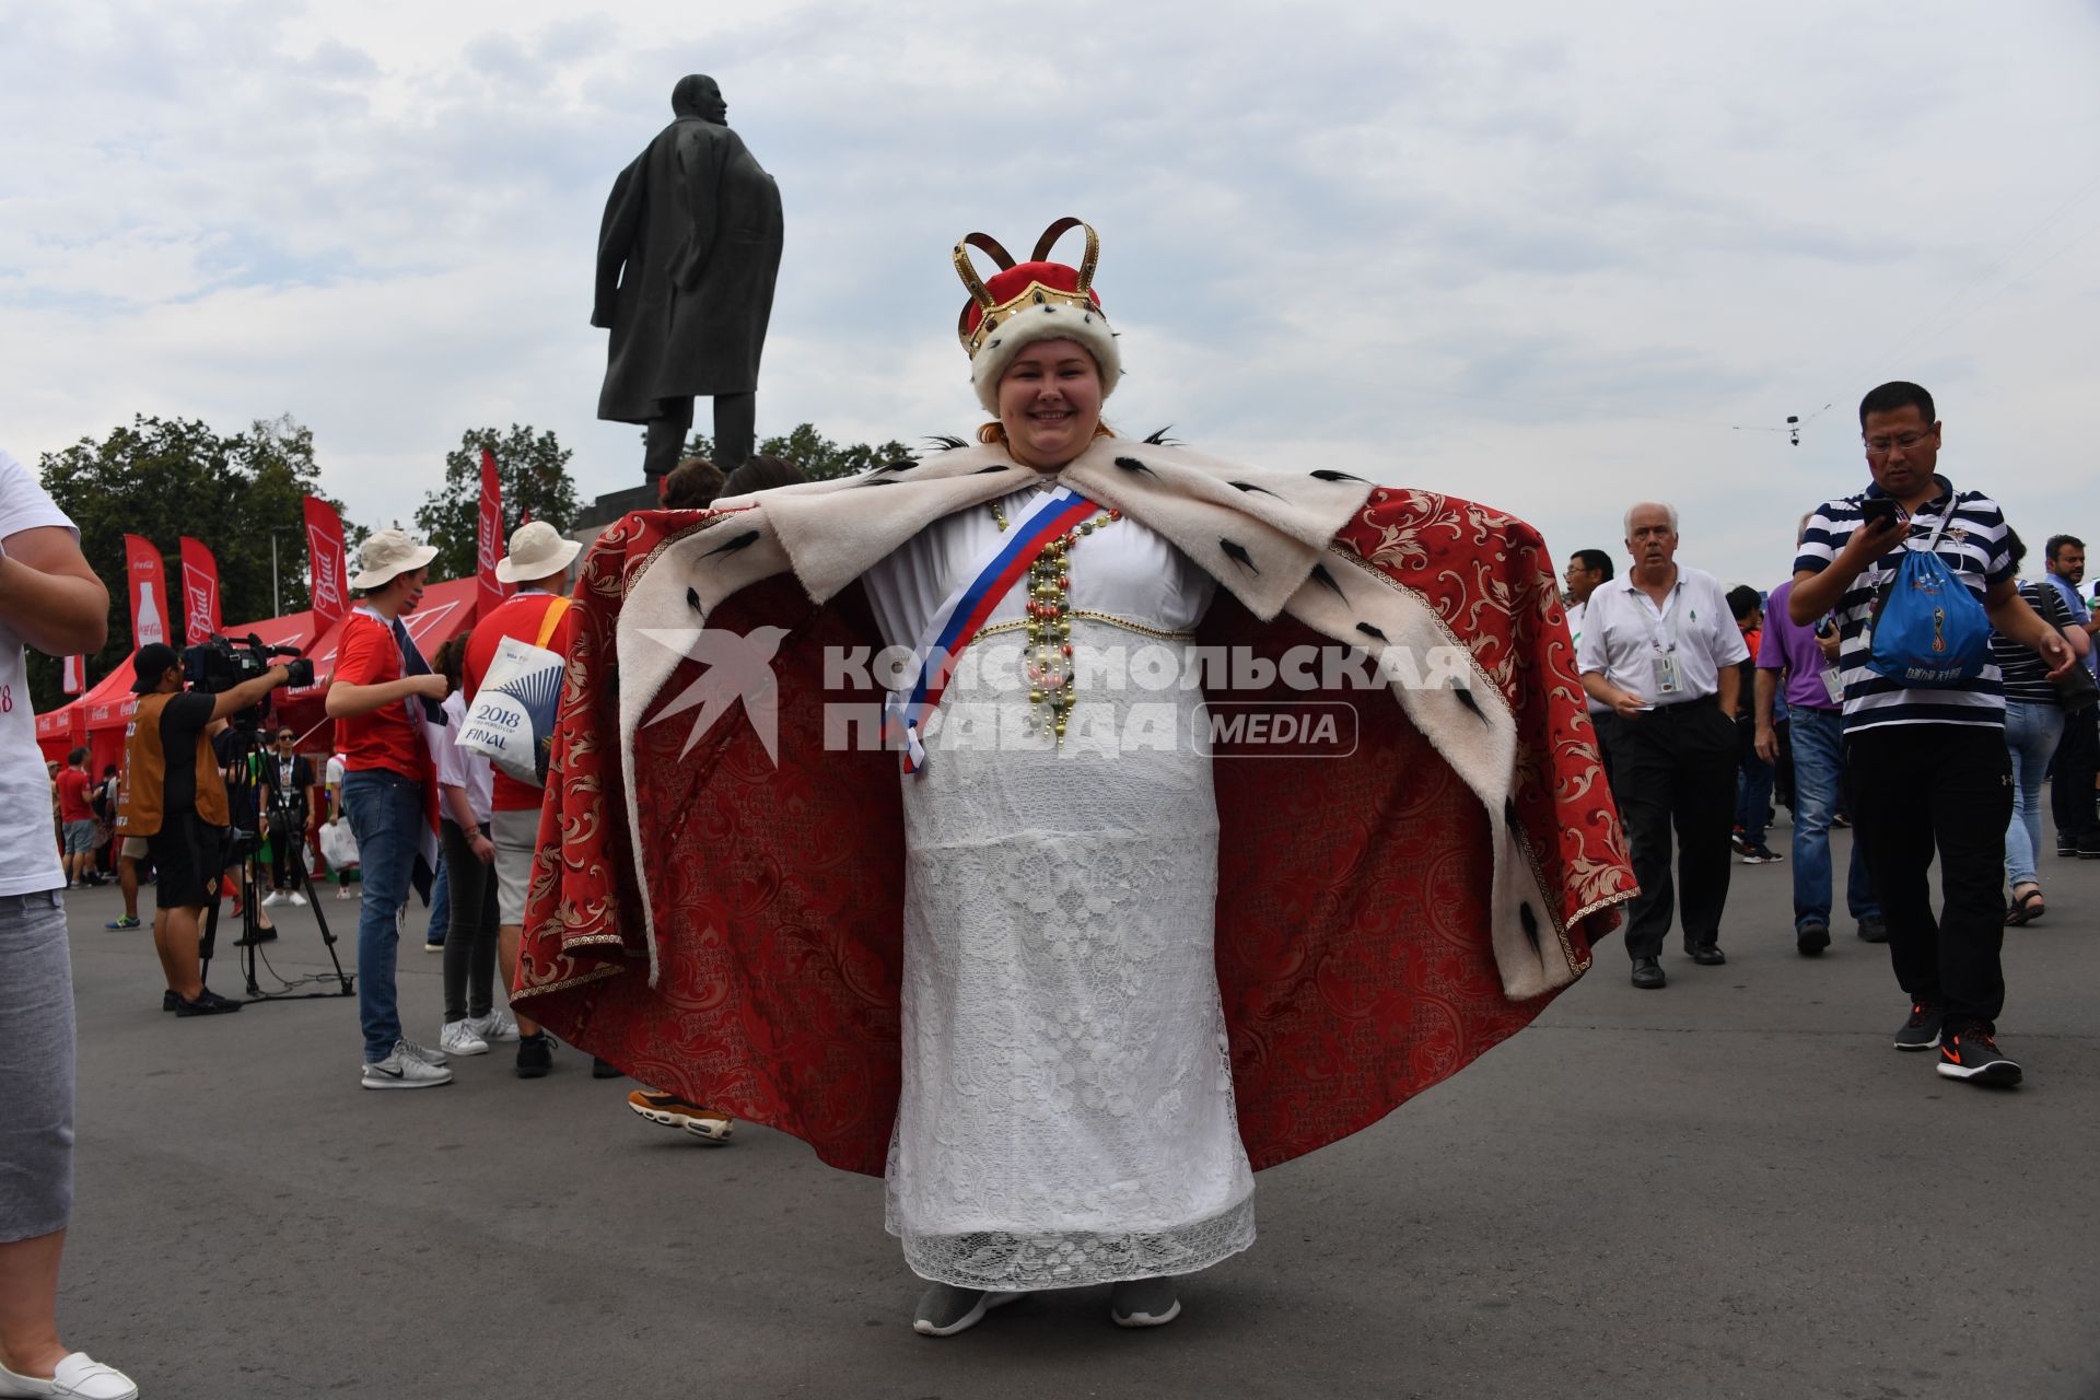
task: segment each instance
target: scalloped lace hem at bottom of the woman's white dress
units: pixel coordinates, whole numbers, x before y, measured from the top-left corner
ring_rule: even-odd
[[[892,1234],[899,1234],[895,1224]],[[1193,1274],[1254,1245],[1254,1196],[1222,1215],[1159,1232],[1050,1230],[901,1234],[920,1278],[958,1289],[1079,1289],[1124,1278]]]

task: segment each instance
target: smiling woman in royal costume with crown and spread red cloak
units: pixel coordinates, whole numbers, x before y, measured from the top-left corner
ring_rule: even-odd
[[[918,1331],[1157,1324],[1634,884],[1529,527],[1111,434],[1094,231],[964,243],[979,445],[592,550],[517,997],[882,1173]]]

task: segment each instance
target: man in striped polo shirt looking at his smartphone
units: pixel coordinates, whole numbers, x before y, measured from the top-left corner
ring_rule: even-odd
[[[2014,588],[1997,502],[1955,491],[1934,470],[1940,422],[1932,395],[1900,380],[1882,384],[1861,401],[1858,424],[1873,483],[1810,514],[1787,613],[1802,625],[1825,613],[1838,617],[1852,833],[1888,917],[1896,980],[1911,997],[1896,1049],[1938,1049],[1938,1070],[1949,1079],[2014,1085],[2020,1066],[1997,1047],[2012,821],[1999,674],[1984,665],[1932,686],[1882,676],[1867,665],[1869,625],[1903,550],[1930,542],[1982,602],[1991,625],[2041,653],[2052,676],[2071,670],[2071,646]],[[1945,892],[1938,919],[1928,886],[1934,854]]]

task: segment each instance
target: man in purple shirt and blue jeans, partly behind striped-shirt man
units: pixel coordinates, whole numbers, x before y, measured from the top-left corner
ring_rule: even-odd
[[[1770,762],[1779,754],[1772,695],[1785,684],[1793,747],[1793,947],[1802,957],[1819,957],[1831,945],[1831,812],[1844,781],[1844,682],[1835,623],[1827,617],[1819,617],[1816,628],[1793,621],[1787,615],[1789,594],[1793,579],[1774,588],[1764,607],[1756,680],[1758,756]],[[1858,842],[1852,842],[1844,896],[1858,919],[1858,936],[1888,942]]]

